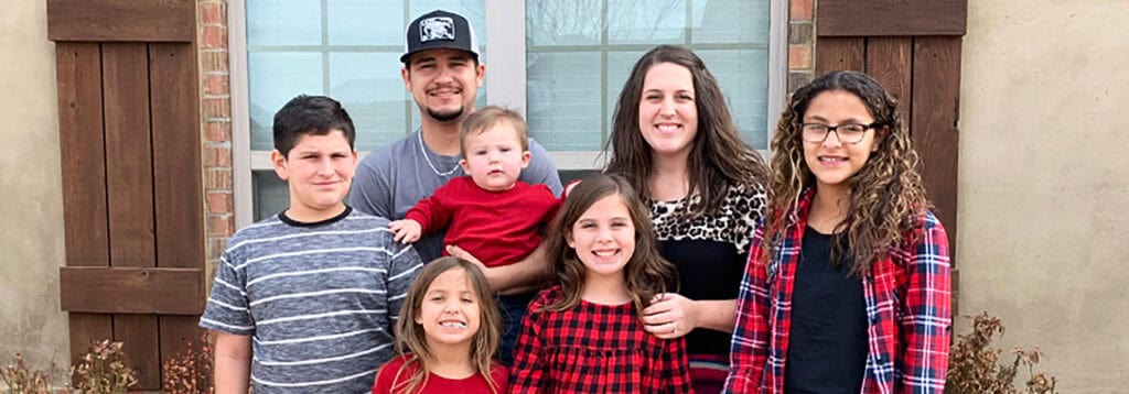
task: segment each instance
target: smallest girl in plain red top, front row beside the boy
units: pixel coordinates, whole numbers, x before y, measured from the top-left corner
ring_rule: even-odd
[[[473,263],[427,263],[396,322],[397,357],[376,373],[373,394],[505,393],[509,370],[495,362],[501,319]]]

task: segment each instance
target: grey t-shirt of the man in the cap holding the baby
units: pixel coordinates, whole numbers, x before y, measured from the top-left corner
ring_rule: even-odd
[[[519,179],[530,185],[544,183],[559,196],[561,180],[549,152],[530,138],[530,153],[533,158],[530,165],[522,170]],[[420,199],[430,197],[448,180],[465,174],[458,159],[457,155],[445,156],[432,152],[423,144],[417,129],[360,161],[349,194],[349,205],[371,215],[402,220]],[[443,256],[444,235],[446,230],[425,235],[412,244],[423,262]]]

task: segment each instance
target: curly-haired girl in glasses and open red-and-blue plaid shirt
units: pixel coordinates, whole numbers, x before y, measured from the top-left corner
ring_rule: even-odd
[[[898,102],[860,72],[798,89],[741,285],[733,393],[939,393],[948,241]]]

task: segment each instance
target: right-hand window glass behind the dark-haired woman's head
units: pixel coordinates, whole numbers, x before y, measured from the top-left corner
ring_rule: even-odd
[[[675,44],[702,57],[742,136],[767,149],[769,1],[527,0],[531,134],[550,151],[602,147],[634,62]]]

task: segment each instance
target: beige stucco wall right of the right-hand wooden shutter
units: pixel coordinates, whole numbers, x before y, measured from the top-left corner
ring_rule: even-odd
[[[961,308],[1040,346],[1064,392],[1129,382],[1126,20],[1123,0],[969,1]]]

